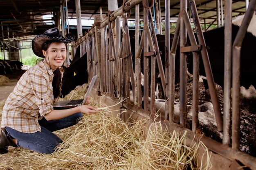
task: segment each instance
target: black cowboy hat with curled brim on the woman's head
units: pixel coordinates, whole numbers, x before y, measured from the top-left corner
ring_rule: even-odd
[[[42,51],[42,45],[44,42],[47,41],[54,41],[54,42],[65,42],[68,43],[75,39],[75,35],[73,34],[67,34],[64,38],[58,28],[52,28],[45,31],[43,34],[37,35],[32,40],[32,50],[38,57],[43,57],[43,51]]]

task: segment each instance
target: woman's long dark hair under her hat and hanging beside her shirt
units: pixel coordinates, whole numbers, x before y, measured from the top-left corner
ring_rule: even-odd
[[[50,44],[52,44],[53,42],[55,42],[55,41],[47,41],[47,42],[43,43],[42,50],[47,51]],[[67,49],[67,44],[66,43],[64,43],[64,44]],[[54,96],[54,98],[58,98],[59,95],[61,94],[61,71],[59,70],[59,68],[57,68],[55,71],[53,71],[53,73],[54,73],[54,77],[52,80],[53,96]]]

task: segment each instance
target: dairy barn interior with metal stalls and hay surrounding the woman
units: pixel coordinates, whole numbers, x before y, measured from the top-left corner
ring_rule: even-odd
[[[76,36],[59,100],[83,98],[98,75],[101,111],[54,131],[52,154],[9,146],[0,169],[256,170],[255,11],[256,0],[1,0],[1,119],[22,49],[54,27]]]

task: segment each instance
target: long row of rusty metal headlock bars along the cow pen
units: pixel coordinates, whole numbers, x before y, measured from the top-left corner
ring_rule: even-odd
[[[240,27],[237,38],[233,45],[233,91],[232,91],[232,147],[229,147],[229,127],[230,127],[230,110],[231,110],[231,38],[229,34],[225,34],[225,87],[224,87],[224,114],[222,116],[220,111],[220,104],[218,101],[216,88],[211,72],[211,65],[207,53],[207,47],[204,42],[202,28],[200,26],[198,13],[196,10],[194,0],[189,0],[193,22],[195,24],[195,31],[198,36],[198,43],[195,39],[193,29],[191,27],[190,18],[186,11],[187,1],[180,1],[180,15],[177,21],[177,27],[173,36],[171,49],[170,46],[170,32],[169,32],[169,0],[165,1],[166,22],[165,22],[165,47],[166,48],[166,62],[165,68],[162,66],[159,46],[157,44],[156,31],[153,25],[153,18],[151,14],[151,7],[153,0],[149,3],[147,0],[124,0],[123,5],[115,11],[110,11],[107,16],[95,15],[92,29],[86,33],[84,37],[80,37],[73,45],[74,48],[81,45],[81,56],[87,53],[89,80],[93,75],[98,74],[97,93],[96,95],[106,95],[108,101],[114,103],[120,102],[119,99],[124,99],[121,107],[126,107],[128,110],[135,111],[142,117],[150,118],[152,121],[161,121],[170,130],[177,130],[181,133],[187,131],[186,137],[196,141],[202,141],[207,148],[216,152],[224,158],[223,163],[234,165],[239,161],[250,169],[256,169],[256,158],[249,156],[239,150],[239,125],[240,125],[240,47],[245,35],[245,31],[249,25],[256,10],[256,0],[252,0],[249,8],[245,14],[244,22]],[[230,30],[231,26],[231,2],[225,0],[226,16],[225,31]],[[143,31],[139,39],[139,5],[144,7]],[[230,5],[229,5],[230,4]],[[128,18],[130,10],[135,7],[135,44],[130,43],[130,35],[128,28]],[[122,18],[122,26],[121,26]],[[230,22],[229,22],[230,21]],[[158,23],[159,24],[159,23]],[[122,28],[122,31],[121,31]],[[122,32],[122,34],[121,34]],[[188,35],[191,46],[186,46]],[[140,41],[139,41],[140,40]],[[180,41],[180,73],[175,73],[175,53]],[[135,55],[131,51],[131,45],[135,46]],[[142,54],[143,50],[143,54]],[[186,52],[193,53],[193,104],[192,104],[192,130],[186,128],[187,121],[187,104],[186,104]],[[198,82],[199,82],[199,53],[201,53],[204,68],[207,75],[207,82],[211,95],[211,101],[214,108],[217,128],[219,132],[223,132],[222,144],[205,137],[200,134],[198,130]],[[144,57],[141,57],[144,56]],[[155,67],[159,68],[159,74],[164,87],[165,113],[156,113],[159,106],[155,103]],[[143,62],[142,73],[144,75],[144,91],[141,91],[141,63]],[[134,64],[134,66],[133,66]],[[180,108],[179,108],[179,122],[174,123],[175,107],[174,107],[174,78],[175,74],[180,74]],[[149,75],[151,75],[149,77]],[[149,87],[150,81],[150,87]],[[131,88],[130,88],[131,84]],[[151,89],[151,91],[149,90]],[[132,95],[130,95],[130,90]],[[143,103],[143,105],[142,105]],[[122,113],[122,117],[127,117]],[[158,116],[156,116],[158,115]],[[223,120],[222,120],[223,117]],[[224,125],[224,126],[223,126]],[[196,140],[195,140],[196,139]],[[212,159],[215,156],[213,155]],[[229,165],[221,166],[218,158],[213,169],[225,169]],[[231,166],[234,167],[234,166]]]

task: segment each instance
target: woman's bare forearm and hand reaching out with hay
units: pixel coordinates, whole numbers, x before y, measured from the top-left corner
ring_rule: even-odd
[[[45,119],[47,121],[62,119],[64,117],[73,115],[74,113],[78,113],[78,112],[82,112],[87,115],[92,115],[97,113],[98,111],[99,109],[97,110],[97,107],[82,105],[82,106],[77,106],[74,108],[63,109],[63,110],[52,110],[50,113],[45,114]]]

